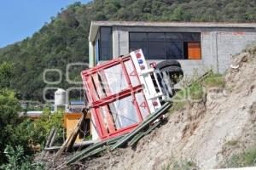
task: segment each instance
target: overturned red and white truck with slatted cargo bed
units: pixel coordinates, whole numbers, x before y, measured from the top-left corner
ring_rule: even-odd
[[[147,64],[138,49],[81,73],[85,100],[100,139],[111,139],[132,129],[172,98],[183,77],[177,60]]]

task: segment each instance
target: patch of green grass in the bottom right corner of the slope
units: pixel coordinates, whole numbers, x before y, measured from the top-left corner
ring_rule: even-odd
[[[253,167],[256,166],[256,146],[230,157],[224,167]]]

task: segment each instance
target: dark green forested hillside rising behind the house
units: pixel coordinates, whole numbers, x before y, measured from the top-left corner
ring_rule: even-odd
[[[88,4],[73,3],[62,8],[50,23],[32,37],[0,48],[0,62],[13,65],[11,88],[20,99],[41,100],[44,69],[88,62],[88,41],[91,20],[157,20],[157,21],[229,21],[255,22],[256,3],[252,0],[95,0]],[[71,77],[79,78],[79,69]],[[53,81],[58,75],[51,75]],[[65,82],[67,88],[73,86]]]

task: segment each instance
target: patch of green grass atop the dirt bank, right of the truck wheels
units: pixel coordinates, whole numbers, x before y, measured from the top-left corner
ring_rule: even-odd
[[[221,74],[211,74],[202,83],[206,88],[224,88],[224,76]]]

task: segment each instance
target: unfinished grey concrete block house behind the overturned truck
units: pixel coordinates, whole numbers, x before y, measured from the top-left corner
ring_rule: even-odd
[[[222,73],[232,54],[256,42],[256,24],[92,21],[90,67],[138,48],[148,61],[177,59],[185,75]]]

